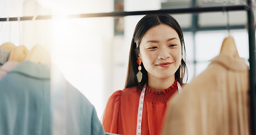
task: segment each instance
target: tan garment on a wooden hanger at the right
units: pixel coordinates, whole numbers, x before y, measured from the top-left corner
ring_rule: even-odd
[[[162,134],[249,134],[249,74],[244,59],[219,55],[168,106]]]

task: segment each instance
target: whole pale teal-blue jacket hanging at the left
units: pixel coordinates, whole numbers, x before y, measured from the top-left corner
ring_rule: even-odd
[[[50,77],[50,66],[23,61],[0,79],[0,134],[105,134],[87,98],[66,79]]]

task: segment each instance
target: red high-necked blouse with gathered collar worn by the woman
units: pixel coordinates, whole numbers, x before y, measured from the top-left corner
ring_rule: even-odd
[[[140,87],[131,87],[116,91],[110,96],[102,121],[105,132],[136,134],[141,91]],[[146,84],[141,134],[160,134],[168,101],[177,91],[177,80],[163,91],[154,91]]]

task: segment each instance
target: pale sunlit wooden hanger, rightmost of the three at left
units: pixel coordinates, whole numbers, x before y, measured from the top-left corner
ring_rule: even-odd
[[[43,48],[41,45],[36,45],[29,51],[26,59],[28,61],[35,62],[37,64],[51,64],[51,57],[48,51]]]

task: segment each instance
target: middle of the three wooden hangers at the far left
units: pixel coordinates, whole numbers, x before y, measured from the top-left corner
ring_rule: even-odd
[[[28,52],[29,50],[25,46],[17,46],[11,51],[8,61],[21,62],[25,60]]]

